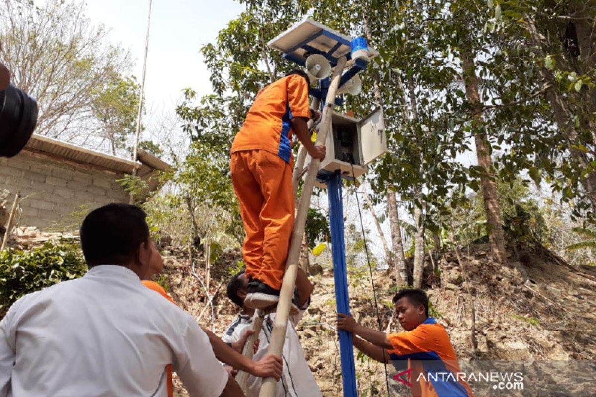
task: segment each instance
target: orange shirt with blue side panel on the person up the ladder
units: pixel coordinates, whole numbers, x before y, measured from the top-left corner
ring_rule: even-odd
[[[244,124],[232,143],[232,153],[260,149],[291,159],[290,119],[311,116],[309,85],[297,74],[283,77],[257,93]]]

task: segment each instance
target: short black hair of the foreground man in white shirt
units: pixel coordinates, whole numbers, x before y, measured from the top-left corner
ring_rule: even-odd
[[[80,226],[80,243],[89,268],[127,265],[149,241],[147,215],[129,204],[108,204],[89,212]]]

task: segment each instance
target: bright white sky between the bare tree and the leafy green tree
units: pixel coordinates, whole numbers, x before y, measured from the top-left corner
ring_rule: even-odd
[[[149,0],[86,0],[86,15],[103,23],[110,41],[129,49],[132,74],[140,82]],[[209,73],[199,54],[220,29],[244,10],[232,0],[153,0],[145,101],[147,109],[172,110],[181,90],[211,92]]]

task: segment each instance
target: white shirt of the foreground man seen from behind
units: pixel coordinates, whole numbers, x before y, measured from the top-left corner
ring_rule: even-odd
[[[191,396],[228,382],[194,318],[122,266],[26,295],[0,322],[0,397],[167,396],[167,364]]]

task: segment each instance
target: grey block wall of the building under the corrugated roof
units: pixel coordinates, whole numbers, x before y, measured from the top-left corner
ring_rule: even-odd
[[[73,224],[73,211],[93,210],[112,202],[128,202],[128,193],[116,182],[120,175],[88,170],[21,152],[0,158],[0,187],[10,190],[8,207],[19,190],[23,217],[20,226],[39,229]]]

